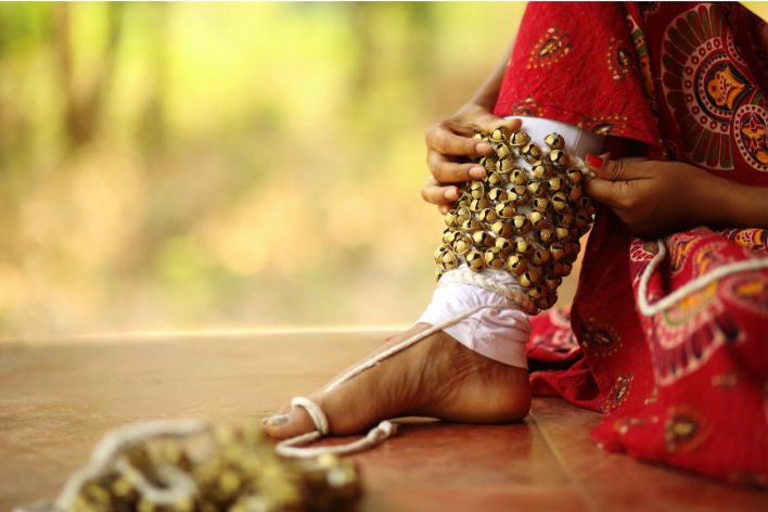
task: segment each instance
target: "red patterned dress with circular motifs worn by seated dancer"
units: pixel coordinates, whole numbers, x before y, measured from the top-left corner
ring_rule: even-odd
[[[530,3],[495,112],[765,187],[763,26],[737,3]],[[599,208],[573,308],[534,320],[529,358],[558,368],[532,374],[535,393],[603,411],[609,450],[765,486],[767,243],[706,227],[642,240]]]

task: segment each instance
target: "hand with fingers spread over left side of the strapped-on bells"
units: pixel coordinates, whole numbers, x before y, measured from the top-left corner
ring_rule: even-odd
[[[492,150],[486,141],[473,136],[499,126],[512,131],[520,129],[520,119],[501,119],[485,106],[468,103],[450,118],[430,127],[426,130],[426,163],[432,177],[421,189],[422,197],[438,205],[440,212],[448,212],[451,203],[459,199],[459,188],[452,183],[485,177],[483,166],[468,161],[489,155]]]

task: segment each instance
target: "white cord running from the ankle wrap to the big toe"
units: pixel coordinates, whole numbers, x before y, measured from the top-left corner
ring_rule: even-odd
[[[425,337],[441,331],[445,328],[448,328],[450,325],[453,325],[455,323],[458,323],[462,321],[463,319],[471,317],[472,315],[476,313],[481,309],[498,309],[499,306],[489,306],[489,305],[481,305],[471,309],[468,309],[466,311],[463,311],[456,317],[451,318],[450,320],[446,320],[443,323],[438,323],[436,325],[431,327],[430,329],[422,331],[420,333],[414,334],[413,336],[409,337],[408,340],[405,340],[397,345],[394,345],[386,350],[383,350],[380,354],[376,354],[375,356],[372,356],[368,360],[361,362],[360,364],[357,364],[353,367],[348,372],[344,373],[342,376],[336,379],[335,381],[331,382],[328,386],[325,386],[324,392],[328,393],[335,387],[344,384],[345,382],[349,381],[350,379],[355,377],[356,375],[359,375],[363,371],[368,370],[369,368],[373,368],[376,364],[381,363],[383,360],[391,358],[395,354],[398,354],[406,348],[410,347],[411,345],[415,345],[417,343],[421,342]],[[309,414],[309,418],[311,418],[312,423],[315,423],[315,430],[311,432],[307,432],[306,434],[300,434],[295,437],[291,437],[289,439],[281,440],[278,443],[276,446],[276,451],[278,455],[283,456],[283,457],[294,457],[294,458],[311,458],[311,457],[318,457],[323,453],[333,453],[333,455],[347,455],[347,453],[354,453],[356,451],[364,450],[368,448],[372,448],[373,446],[377,445],[379,443],[383,441],[384,439],[387,439],[388,437],[392,437],[395,435],[397,432],[397,425],[392,423],[391,421],[382,421],[379,423],[379,425],[374,426],[368,432],[368,435],[366,437],[362,437],[360,439],[354,440],[351,443],[347,443],[344,445],[334,445],[334,446],[319,446],[319,447],[305,447],[305,446],[297,446],[297,445],[306,445],[308,443],[316,441],[320,439],[321,437],[328,435],[329,433],[329,426],[328,426],[328,418],[325,417],[325,413],[323,410],[318,406],[315,401],[310,400],[307,397],[295,397],[293,400],[291,400],[291,406],[292,407],[300,407],[305,411],[307,411],[307,414]]]

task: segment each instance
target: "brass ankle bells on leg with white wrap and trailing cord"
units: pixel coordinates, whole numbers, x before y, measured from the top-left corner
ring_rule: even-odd
[[[580,156],[600,151],[603,138],[549,119],[525,126],[525,131],[497,128],[475,136],[492,154],[477,162],[486,178],[465,183],[445,216],[435,252],[439,286],[419,318],[432,327],[353,367],[325,393],[438,331],[490,359],[527,368],[528,315],[554,305],[578,256],[578,240],[592,223],[594,208],[583,192],[591,172]],[[306,397],[294,398],[292,406],[305,409],[316,430],[279,443],[278,453],[285,457],[358,451],[396,431],[383,421],[354,443],[303,447],[328,435],[329,422]]]

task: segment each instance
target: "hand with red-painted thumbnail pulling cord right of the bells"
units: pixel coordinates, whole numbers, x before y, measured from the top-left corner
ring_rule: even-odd
[[[732,220],[727,213],[740,197],[730,191],[743,185],[681,162],[605,156],[587,156],[597,178],[587,182],[586,191],[635,234],[652,238]]]

